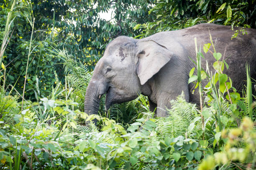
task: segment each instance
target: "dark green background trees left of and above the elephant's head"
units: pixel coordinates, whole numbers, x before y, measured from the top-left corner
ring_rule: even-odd
[[[11,3],[0,1],[1,38]],[[55,85],[54,71],[62,84],[65,81],[63,67],[59,64],[61,60],[50,51],[66,49],[91,71],[110,40],[120,35],[136,36],[139,33],[133,31],[136,24],[153,20],[153,16],[147,15],[150,7],[151,0],[18,0],[10,18],[10,21],[14,19],[9,29],[13,34],[3,54],[4,65],[9,64],[7,91],[14,85],[17,92],[22,93],[30,46],[25,97],[36,100],[33,91],[36,77],[41,97],[51,93],[51,87]],[[111,20],[102,19],[104,13],[112,10]],[[32,28],[28,19],[33,21],[29,17],[32,14],[35,23],[30,43]]]

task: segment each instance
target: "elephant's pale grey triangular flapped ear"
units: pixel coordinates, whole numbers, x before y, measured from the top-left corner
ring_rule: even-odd
[[[153,40],[139,41],[136,45],[136,72],[143,85],[169,62],[173,53]]]

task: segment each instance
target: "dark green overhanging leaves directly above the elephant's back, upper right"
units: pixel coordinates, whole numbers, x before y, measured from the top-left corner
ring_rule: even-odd
[[[148,12],[154,15],[154,22],[138,24],[134,30],[141,30],[137,37],[146,37],[156,32],[187,28],[199,23],[215,23],[242,26],[234,32],[246,33],[245,28],[256,28],[254,0],[157,0]]]

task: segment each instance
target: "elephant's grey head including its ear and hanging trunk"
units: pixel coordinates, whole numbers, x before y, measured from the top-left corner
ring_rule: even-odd
[[[172,52],[153,40],[117,37],[97,62],[87,87],[84,111],[97,114],[100,97],[106,93],[105,108],[134,100],[143,85],[172,57]]]

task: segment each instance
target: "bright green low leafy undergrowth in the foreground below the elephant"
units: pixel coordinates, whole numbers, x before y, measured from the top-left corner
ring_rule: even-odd
[[[126,130],[115,120],[88,116],[74,110],[73,106],[77,107],[78,103],[72,100],[47,98],[38,103],[26,102],[26,110],[15,115],[15,122],[9,122],[4,117],[13,115],[9,110],[20,108],[20,103],[15,98],[8,98],[4,92],[1,96],[1,103],[15,103],[5,105],[1,113],[0,165],[6,168],[194,169],[199,166],[199,169],[209,169],[212,157],[215,157],[215,161],[211,162],[213,167],[225,164],[225,168],[231,168],[237,165],[233,161],[252,160],[251,154],[255,152],[255,130],[250,119],[243,120],[240,128],[230,129],[230,133],[224,130],[222,135],[218,127],[214,128],[215,120],[210,120],[205,128],[205,140],[202,140],[202,122],[199,121],[200,117],[197,118],[195,105],[186,103],[182,96],[172,101],[174,107],[169,116],[159,119],[145,113],[145,118],[137,119]],[[183,112],[182,107],[187,108],[186,111]],[[214,110],[213,106],[208,109]],[[176,128],[176,137],[168,134],[168,131],[174,130],[173,127],[165,126],[166,133],[161,129],[165,122],[176,121],[173,119],[175,111],[183,121],[187,120],[187,125],[192,122],[187,129]],[[193,117],[193,114],[196,116]],[[80,122],[81,119],[94,118],[102,121],[100,129],[94,124],[86,127]],[[177,121],[176,125],[179,123]],[[242,131],[244,135],[240,137]],[[218,147],[212,140],[212,133]],[[215,149],[209,147],[212,145],[215,145]],[[231,149],[231,146],[240,146],[242,149]],[[243,146],[246,148],[243,149]],[[230,157],[236,152],[243,154],[243,157]],[[205,155],[208,155],[206,159]],[[239,164],[240,167],[247,165],[251,164]]]

